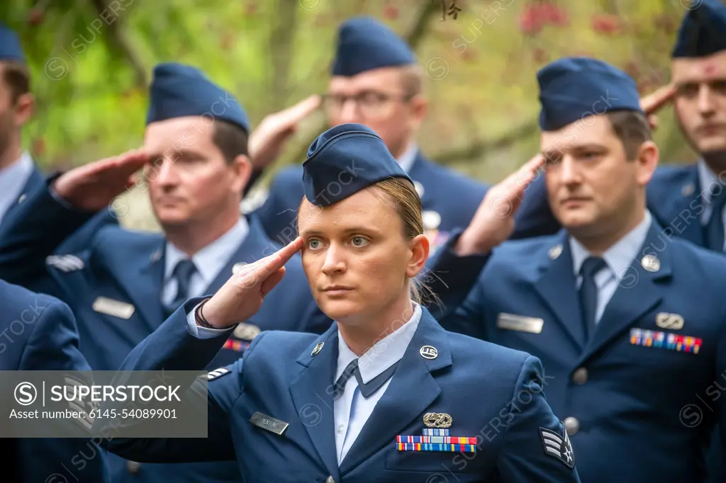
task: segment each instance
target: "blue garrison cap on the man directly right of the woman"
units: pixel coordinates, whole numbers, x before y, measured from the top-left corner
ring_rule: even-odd
[[[542,131],[558,131],[576,120],[605,112],[643,112],[635,80],[601,60],[558,59],[542,67],[537,80]]]

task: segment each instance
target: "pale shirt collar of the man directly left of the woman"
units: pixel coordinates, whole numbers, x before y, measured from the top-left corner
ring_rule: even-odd
[[[232,258],[237,249],[239,249],[242,241],[245,241],[250,232],[250,226],[244,216],[229,228],[227,233],[200,249],[192,257],[192,262],[197,268],[197,272],[203,278],[205,286],[211,284],[216,276],[224,269],[229,259]],[[187,259],[187,255],[171,244],[166,242],[166,257],[164,265],[164,280],[168,281],[174,272],[176,264],[180,260]]]

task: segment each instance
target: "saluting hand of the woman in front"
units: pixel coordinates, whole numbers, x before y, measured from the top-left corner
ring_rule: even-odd
[[[206,321],[215,329],[227,329],[255,315],[266,294],[285,276],[285,263],[302,247],[298,236],[272,255],[243,266],[204,305]]]

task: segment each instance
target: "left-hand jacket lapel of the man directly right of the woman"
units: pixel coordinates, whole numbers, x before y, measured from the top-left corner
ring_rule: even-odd
[[[584,328],[577,299],[576,278],[567,232],[560,231],[551,247],[546,247],[539,264],[534,289],[555,314],[572,344],[582,350]]]

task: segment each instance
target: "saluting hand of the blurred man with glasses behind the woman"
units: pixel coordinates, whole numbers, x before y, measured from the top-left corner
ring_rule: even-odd
[[[320,105],[320,96],[312,95],[293,107],[266,116],[250,134],[250,160],[260,170],[280,156],[282,146],[298,128],[298,124]]]

